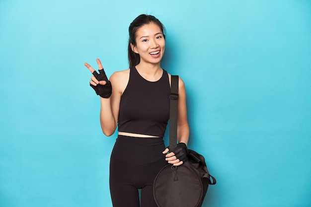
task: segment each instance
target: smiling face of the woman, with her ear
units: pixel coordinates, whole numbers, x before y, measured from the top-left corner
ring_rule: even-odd
[[[136,45],[132,50],[138,53],[140,63],[159,64],[165,49],[165,39],[159,26],[151,22],[140,27],[136,32]]]

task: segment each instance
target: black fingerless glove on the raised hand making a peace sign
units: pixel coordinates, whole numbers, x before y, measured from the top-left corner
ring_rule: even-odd
[[[98,70],[99,74],[96,72],[96,70],[93,72],[93,75],[98,81],[105,80],[107,83],[105,85],[97,84],[96,86],[89,84],[96,92],[97,95],[99,95],[102,98],[109,98],[112,93],[112,86],[111,82],[108,80],[106,73],[104,69]]]

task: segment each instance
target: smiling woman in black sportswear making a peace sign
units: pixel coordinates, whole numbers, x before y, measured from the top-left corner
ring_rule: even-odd
[[[180,78],[179,143],[169,152],[163,141],[170,95],[170,74],[160,66],[165,49],[164,31],[156,17],[138,16],[129,27],[130,69],[114,72],[110,80],[98,59],[99,74],[84,64],[93,73],[90,86],[101,97],[102,132],[111,136],[118,126],[109,178],[114,207],[156,207],[153,183],[157,173],[167,162],[178,166],[186,161],[189,125],[185,86]],[[142,189],[141,201],[138,189]]]

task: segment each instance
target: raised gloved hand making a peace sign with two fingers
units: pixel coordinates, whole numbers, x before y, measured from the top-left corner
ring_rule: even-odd
[[[93,76],[89,81],[89,85],[95,90],[96,94],[102,98],[109,98],[112,93],[111,82],[108,80],[106,73],[101,65],[99,59],[96,59],[98,65],[99,74],[88,63],[84,63],[84,66],[91,71]]]

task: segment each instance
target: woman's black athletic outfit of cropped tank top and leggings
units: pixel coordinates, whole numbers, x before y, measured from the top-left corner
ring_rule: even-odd
[[[151,82],[135,67],[121,96],[118,131],[159,138],[118,136],[110,158],[110,193],[113,207],[156,207],[153,184],[167,164],[163,136],[169,119],[170,85],[163,70]],[[141,204],[138,189],[141,191]]]

